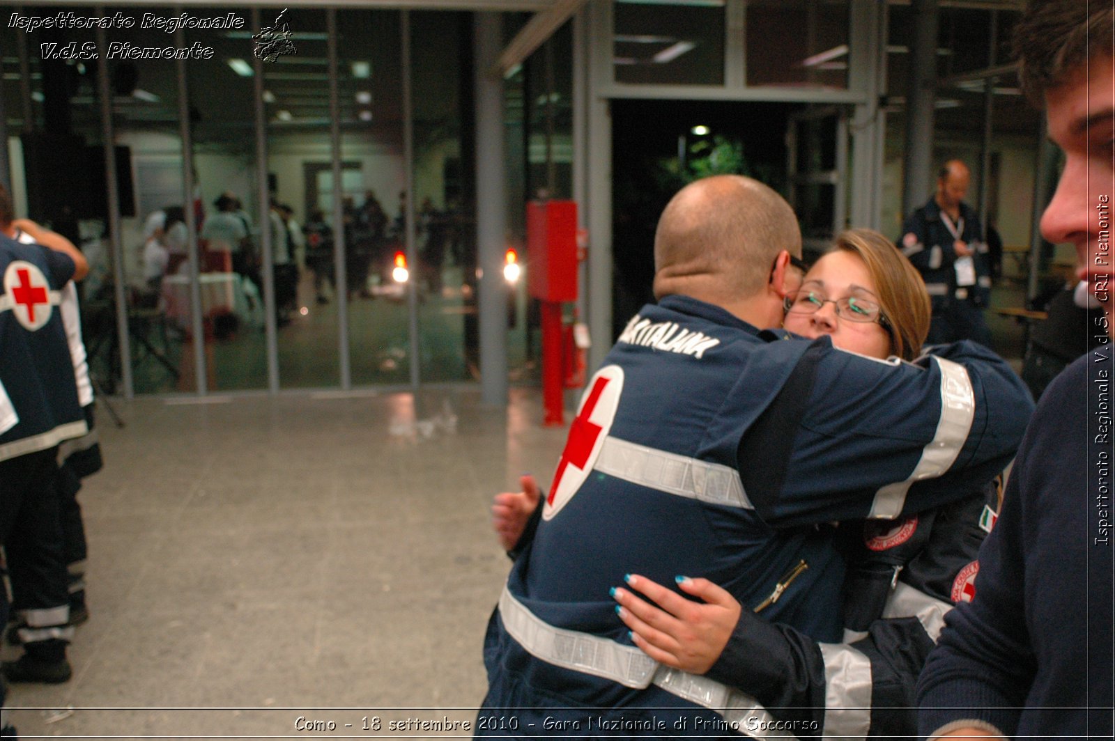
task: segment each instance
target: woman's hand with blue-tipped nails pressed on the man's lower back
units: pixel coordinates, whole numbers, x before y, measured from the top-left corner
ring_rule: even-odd
[[[631,574],[626,581],[628,589],[613,588],[612,597],[634,644],[667,666],[694,674],[711,669],[739,622],[736,598],[704,578],[677,577],[682,592],[704,602],[686,599],[646,576]]]

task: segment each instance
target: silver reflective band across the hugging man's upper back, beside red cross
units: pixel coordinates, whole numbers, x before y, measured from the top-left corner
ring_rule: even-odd
[[[714,505],[754,509],[739,471],[609,436],[593,468],[624,481]]]

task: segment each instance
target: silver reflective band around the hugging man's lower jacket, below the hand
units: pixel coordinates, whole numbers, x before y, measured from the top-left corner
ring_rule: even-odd
[[[633,690],[653,684],[718,713],[736,730],[755,739],[795,738],[774,730],[774,716],[750,695],[707,676],[662,666],[634,646],[550,625],[516,599],[506,585],[500,595],[500,620],[527,653],[546,663],[611,680]]]

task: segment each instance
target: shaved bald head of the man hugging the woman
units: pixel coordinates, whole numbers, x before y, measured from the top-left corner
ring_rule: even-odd
[[[775,257],[802,255],[797,217],[758,181],[716,175],[690,183],[667,204],[655,234],[655,296],[726,303],[758,294]]]

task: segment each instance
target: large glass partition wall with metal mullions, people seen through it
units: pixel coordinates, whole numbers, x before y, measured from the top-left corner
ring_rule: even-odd
[[[0,29],[12,192],[95,263],[83,301],[101,390],[475,380],[473,16],[190,14],[233,22],[33,39],[200,50],[186,59],[43,61]],[[70,187],[52,188],[62,160]]]

